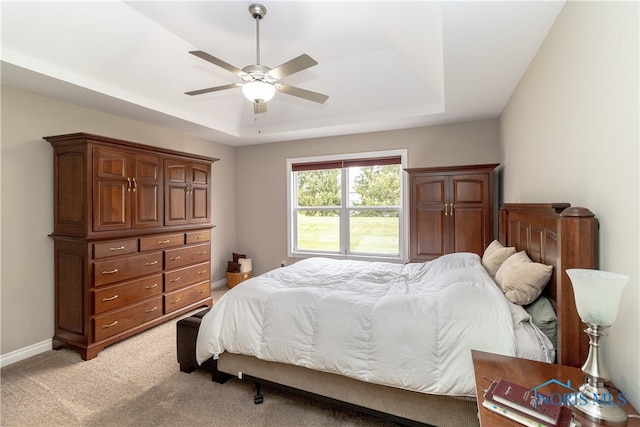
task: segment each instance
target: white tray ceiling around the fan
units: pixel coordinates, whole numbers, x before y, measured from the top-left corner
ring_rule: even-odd
[[[200,58],[256,63],[251,1],[2,1],[2,83],[229,145],[497,117],[563,1],[264,0],[260,59],[318,65],[254,115]],[[84,129],[77,129],[84,131]]]

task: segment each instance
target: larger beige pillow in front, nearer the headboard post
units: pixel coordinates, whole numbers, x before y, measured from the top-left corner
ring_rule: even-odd
[[[553,267],[533,262],[523,252],[510,256],[496,272],[496,283],[509,301],[525,305],[533,302],[549,282]]]

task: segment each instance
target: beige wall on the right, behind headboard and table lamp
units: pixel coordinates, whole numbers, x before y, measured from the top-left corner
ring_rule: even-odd
[[[640,409],[638,2],[568,2],[501,118],[504,201],[570,202],[600,220],[600,269],[631,276],[604,339]]]

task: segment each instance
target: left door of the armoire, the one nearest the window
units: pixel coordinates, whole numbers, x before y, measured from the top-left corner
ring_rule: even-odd
[[[411,179],[411,260],[425,261],[447,253],[447,176],[415,176]]]

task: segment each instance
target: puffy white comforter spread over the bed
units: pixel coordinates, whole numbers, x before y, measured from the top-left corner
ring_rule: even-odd
[[[516,337],[480,258],[458,253],[405,265],[311,258],[249,279],[204,316],[196,354],[473,396],[471,349],[516,355]]]

